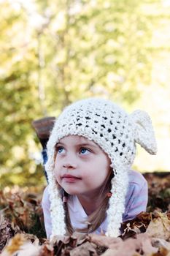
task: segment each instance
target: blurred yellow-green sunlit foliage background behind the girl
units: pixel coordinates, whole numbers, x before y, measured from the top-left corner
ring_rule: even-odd
[[[31,121],[85,97],[146,110],[157,156],[134,168],[170,170],[169,0],[0,0],[1,189],[41,187]]]

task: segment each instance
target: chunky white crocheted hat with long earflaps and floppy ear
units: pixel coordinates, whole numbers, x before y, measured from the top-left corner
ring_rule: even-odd
[[[83,99],[63,110],[55,121],[47,143],[47,171],[50,193],[52,236],[64,235],[66,224],[60,192],[56,186],[54,168],[55,145],[67,135],[81,135],[93,140],[111,159],[115,174],[112,178],[112,196],[107,209],[107,236],[119,236],[120,224],[125,211],[125,195],[128,188],[128,170],[139,143],[150,154],[156,154],[157,147],[150,116],[142,110],[131,115],[113,102],[105,99]]]

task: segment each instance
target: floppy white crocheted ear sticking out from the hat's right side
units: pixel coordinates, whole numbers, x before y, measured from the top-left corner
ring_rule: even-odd
[[[145,111],[135,110],[130,118],[134,127],[135,142],[139,143],[148,153],[156,154],[157,145],[150,116]]]

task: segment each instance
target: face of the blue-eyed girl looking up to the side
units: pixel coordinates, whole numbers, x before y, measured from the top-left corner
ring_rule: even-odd
[[[109,176],[110,160],[93,141],[69,135],[56,145],[55,178],[69,195],[93,197]]]

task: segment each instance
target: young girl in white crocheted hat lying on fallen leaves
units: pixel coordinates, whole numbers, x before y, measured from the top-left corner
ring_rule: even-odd
[[[147,181],[131,170],[136,143],[156,154],[150,117],[105,99],[83,99],[61,113],[47,143],[49,181],[42,198],[47,238],[120,235],[147,206]]]

